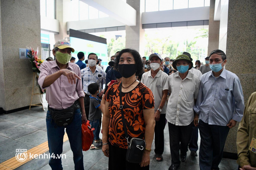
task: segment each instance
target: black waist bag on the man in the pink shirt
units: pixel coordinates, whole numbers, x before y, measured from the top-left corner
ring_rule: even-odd
[[[73,121],[75,109],[79,108],[80,106],[76,101],[73,105],[63,110],[50,109],[52,120],[54,120],[57,126],[67,126]]]

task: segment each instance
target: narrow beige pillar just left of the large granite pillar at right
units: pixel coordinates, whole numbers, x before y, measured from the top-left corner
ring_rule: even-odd
[[[214,21],[215,0],[210,1],[209,11],[209,37],[208,37],[208,56],[211,51],[219,47],[220,21]]]

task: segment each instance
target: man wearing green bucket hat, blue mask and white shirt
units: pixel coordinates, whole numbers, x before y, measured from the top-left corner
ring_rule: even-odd
[[[178,72],[168,77],[168,90],[171,95],[166,109],[166,120],[172,158],[169,170],[178,169],[180,161],[184,162],[187,158],[194,120],[193,106],[200,88],[200,79],[189,71],[192,67],[193,63],[187,55],[179,55],[173,61],[173,68]]]

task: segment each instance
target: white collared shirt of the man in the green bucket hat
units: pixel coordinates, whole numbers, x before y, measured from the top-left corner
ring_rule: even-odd
[[[187,126],[194,119],[194,99],[197,99],[200,79],[190,71],[185,79],[181,79],[179,72],[175,72],[168,77],[168,83],[171,95],[166,120],[177,126]]]

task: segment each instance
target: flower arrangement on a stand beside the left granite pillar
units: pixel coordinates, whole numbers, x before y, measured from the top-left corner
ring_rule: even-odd
[[[42,106],[43,107],[43,93],[45,93],[45,91],[43,91],[40,86],[38,85],[38,77],[40,74],[40,65],[43,63],[43,60],[41,60],[40,58],[38,58],[37,54],[38,54],[38,47],[37,50],[34,51],[33,48],[31,47],[27,47],[28,52],[27,52],[27,56],[30,59],[30,63],[32,65],[32,70],[34,72],[33,75],[33,87],[32,87],[32,93],[31,93],[31,100],[30,100],[30,105],[29,105],[29,110],[31,109],[31,106]],[[39,87],[40,89],[40,93],[34,93],[34,87],[35,87],[35,81],[37,84],[37,87]],[[32,100],[33,100],[33,96],[34,95],[40,95],[40,102],[38,104],[32,104]],[[44,107],[43,107],[43,111],[45,111]]]

